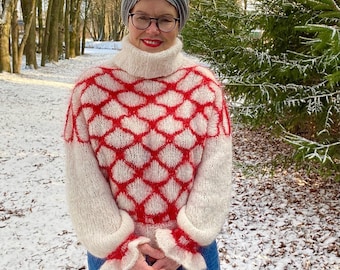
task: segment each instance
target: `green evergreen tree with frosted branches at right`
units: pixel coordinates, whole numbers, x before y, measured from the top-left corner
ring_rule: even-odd
[[[183,33],[185,48],[200,54],[221,76],[234,104],[233,115],[280,132],[301,150],[297,157],[336,163],[336,2],[258,0],[256,12],[238,12],[221,1],[200,2],[205,8],[192,1],[191,27]]]

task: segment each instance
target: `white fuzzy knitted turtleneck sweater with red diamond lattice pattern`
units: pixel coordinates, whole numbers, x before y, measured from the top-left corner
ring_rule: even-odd
[[[128,270],[150,243],[185,269],[225,222],[230,120],[213,74],[180,40],[147,53],[123,40],[77,81],[64,131],[67,199],[79,240],[101,269]]]

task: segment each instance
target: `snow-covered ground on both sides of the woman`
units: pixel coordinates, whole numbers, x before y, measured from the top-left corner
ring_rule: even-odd
[[[86,267],[65,203],[63,125],[75,79],[120,44],[88,47],[75,59],[0,74],[1,270]],[[222,270],[339,270],[339,185],[316,187],[304,171],[265,166],[248,175],[272,155],[259,158],[252,134],[234,132],[234,196],[218,237]]]

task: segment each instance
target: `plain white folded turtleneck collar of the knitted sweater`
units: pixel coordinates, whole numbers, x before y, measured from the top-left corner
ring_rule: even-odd
[[[122,50],[115,55],[113,63],[130,75],[145,79],[165,77],[183,66],[185,58],[182,42],[177,38],[167,50],[157,53],[142,51],[132,45],[129,36],[122,40]]]

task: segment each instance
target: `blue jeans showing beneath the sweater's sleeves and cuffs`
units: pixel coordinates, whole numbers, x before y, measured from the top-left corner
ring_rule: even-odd
[[[207,264],[207,270],[220,270],[220,260],[218,257],[216,241],[212,242],[209,246],[201,247],[200,253]],[[97,258],[92,254],[87,253],[89,270],[98,270],[104,262],[105,259]],[[183,268],[180,267],[177,270],[183,270]]]

